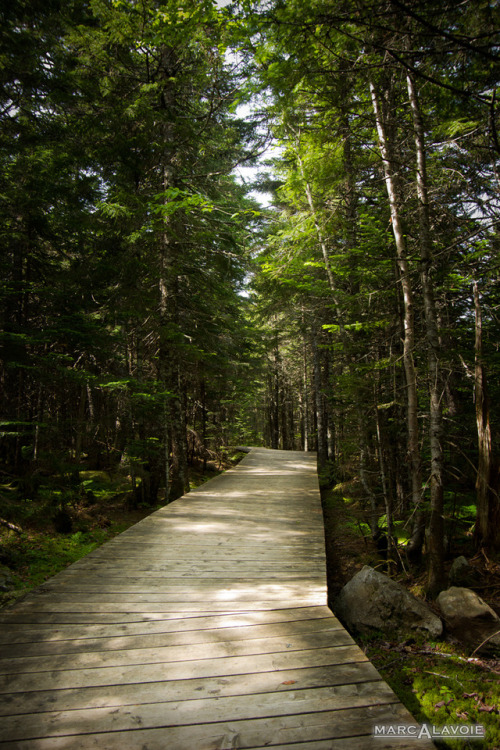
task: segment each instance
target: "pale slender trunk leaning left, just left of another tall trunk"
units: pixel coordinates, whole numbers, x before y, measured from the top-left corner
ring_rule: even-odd
[[[370,83],[373,110],[379,139],[380,153],[384,167],[384,178],[391,211],[392,231],[396,244],[397,263],[403,291],[403,366],[406,378],[406,404],[408,429],[408,458],[410,464],[411,499],[415,509],[413,533],[408,543],[408,554],[411,559],[420,557],[424,542],[424,517],[422,512],[422,468],[420,459],[419,431],[418,431],[418,396],[417,375],[413,360],[415,332],[413,322],[413,293],[410,278],[404,229],[399,210],[397,191],[397,170],[392,153],[392,144],[388,134],[387,118],[384,115],[380,96],[373,83]]]

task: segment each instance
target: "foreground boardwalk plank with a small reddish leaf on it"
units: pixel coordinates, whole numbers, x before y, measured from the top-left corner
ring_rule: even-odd
[[[141,703],[220,698],[229,695],[276,693],[284,690],[351,685],[373,682],[379,674],[370,662],[337,664],[328,667],[302,667],[300,669],[254,672],[225,677],[163,680],[113,685],[112,690],[101,687],[73,688],[67,690],[38,690],[13,693],[0,701],[0,715],[21,715],[42,711],[70,711],[87,708],[111,708]]]

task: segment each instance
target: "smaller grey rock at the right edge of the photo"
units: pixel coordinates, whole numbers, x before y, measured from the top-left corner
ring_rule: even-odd
[[[482,650],[500,648],[500,617],[474,591],[452,586],[437,601],[448,630],[459,641],[477,648],[493,636]]]

